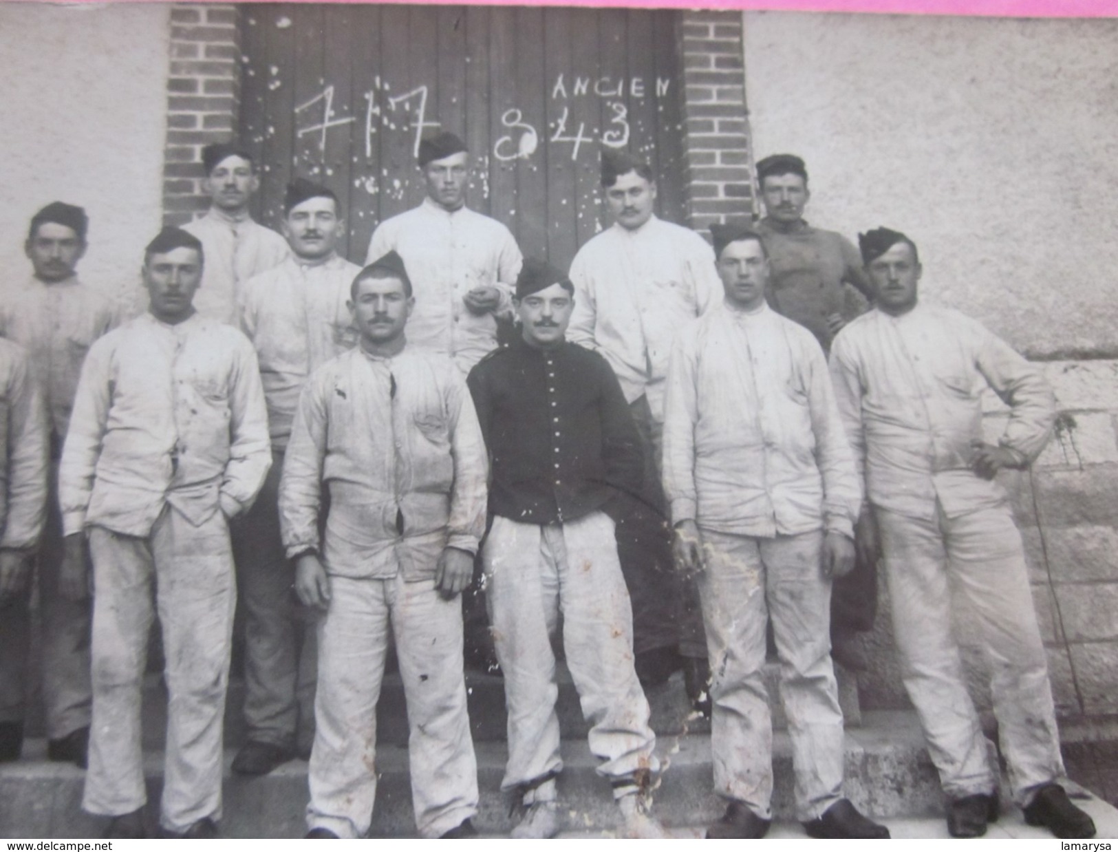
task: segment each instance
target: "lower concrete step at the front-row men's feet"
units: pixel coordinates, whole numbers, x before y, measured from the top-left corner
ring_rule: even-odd
[[[500,793],[505,746],[501,741],[479,741],[475,749],[481,789],[477,827],[484,833],[504,834],[512,825]],[[657,816],[670,826],[701,826],[721,815],[723,804],[711,792],[710,738],[699,733],[661,735],[656,750],[665,767],[655,793]],[[222,833],[230,837],[302,836],[306,764],[292,760],[272,775],[246,779],[229,773],[233,754],[233,749],[226,754]],[[566,767],[559,793],[566,827],[580,832],[612,830],[616,811],[608,785],[595,773],[597,759],[581,739],[565,740],[562,754]],[[101,823],[79,811],[84,773],[70,765],[46,763],[44,755],[44,741],[31,740],[22,760],[0,766],[0,826],[12,837],[96,834]],[[941,821],[938,778],[913,713],[866,712],[861,728],[846,731],[845,760],[845,794],[864,812],[887,822],[923,817]],[[790,744],[784,732],[774,737],[774,765],[775,815],[777,820],[793,821]],[[380,780],[371,834],[414,835],[407,749],[392,744],[380,746],[377,770]],[[145,771],[154,813],[162,779],[160,752],[146,755]],[[1093,801],[1091,806],[1108,807]],[[1110,824],[1118,827],[1118,822]]]

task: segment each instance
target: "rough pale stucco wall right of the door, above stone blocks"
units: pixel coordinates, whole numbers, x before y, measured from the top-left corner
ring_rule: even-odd
[[[758,158],[1031,356],[1118,353],[1118,20],[745,12]]]

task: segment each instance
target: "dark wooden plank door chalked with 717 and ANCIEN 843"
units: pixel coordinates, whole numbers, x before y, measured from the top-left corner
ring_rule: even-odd
[[[468,206],[558,266],[606,224],[603,145],[650,160],[660,215],[683,220],[676,11],[254,3],[243,26],[240,135],[268,225],[288,180],[323,182],[361,263],[423,199],[419,139],[443,130],[470,146]]]

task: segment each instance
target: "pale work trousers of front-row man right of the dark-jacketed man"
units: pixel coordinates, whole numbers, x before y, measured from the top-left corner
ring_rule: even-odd
[[[761,671],[771,617],[792,739],[796,818],[815,820],[842,796],[843,779],[823,532],[775,538],[701,533],[705,568],[699,595],[712,675],[714,792],[762,820],[773,818],[773,719]]]

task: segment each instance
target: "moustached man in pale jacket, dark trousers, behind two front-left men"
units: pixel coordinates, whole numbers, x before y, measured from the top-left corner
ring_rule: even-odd
[[[245,610],[245,727],[248,741],[233,770],[264,775],[310,757],[314,739],[318,651],[311,610],[292,595],[295,566],[280,534],[280,475],[299,407],[314,370],[357,343],[349,288],[361,267],[334,250],[342,235],[338,197],[302,178],[287,187],[283,231],[291,255],[245,283],[240,328],[253,341],[268,404],[272,467],[245,523],[234,534]]]

